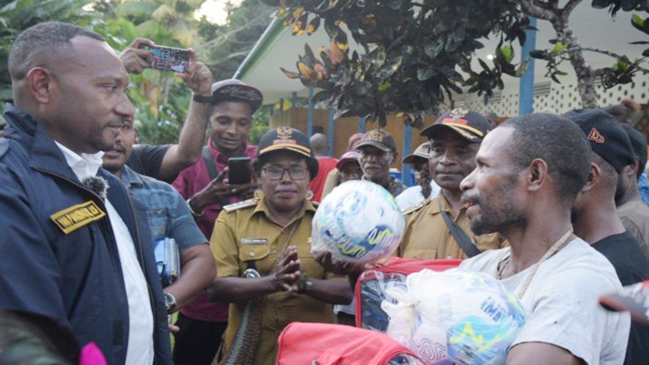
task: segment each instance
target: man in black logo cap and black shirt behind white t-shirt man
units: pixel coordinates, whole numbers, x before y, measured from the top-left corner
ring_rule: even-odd
[[[615,208],[618,175],[635,164],[628,134],[599,109],[571,110],[564,116],[582,128],[593,149],[588,180],[572,208],[574,233],[609,259],[622,285],[649,279],[649,263]],[[649,328],[632,323],[624,364],[647,363]]]

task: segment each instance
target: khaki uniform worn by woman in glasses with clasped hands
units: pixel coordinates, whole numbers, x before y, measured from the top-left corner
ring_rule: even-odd
[[[311,236],[313,214],[315,208],[305,200],[295,218],[286,227],[280,227],[269,218],[269,210],[263,199],[259,202],[251,199],[225,207],[216,220],[210,242],[216,260],[217,276],[240,277],[251,260],[254,260],[256,270],[262,276],[268,275],[286,245],[297,246],[300,271],[304,275],[316,279],[333,276],[325,273],[323,267],[309,253],[311,247],[308,238]],[[287,242],[294,224],[297,224],[297,228],[291,241]],[[230,304],[228,328],[225,333],[226,349],[234,341],[246,303],[247,301],[241,301]],[[275,364],[277,338],[292,321],[330,323],[332,305],[310,296],[288,292],[276,292],[266,296],[254,364]]]

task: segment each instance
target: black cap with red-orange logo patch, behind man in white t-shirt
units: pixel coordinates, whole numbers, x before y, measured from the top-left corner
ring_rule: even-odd
[[[563,114],[586,134],[594,153],[611,164],[617,173],[635,164],[628,134],[614,116],[600,109],[575,109]]]

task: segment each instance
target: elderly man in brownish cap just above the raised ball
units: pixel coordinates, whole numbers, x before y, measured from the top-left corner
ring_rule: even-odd
[[[397,160],[397,142],[383,129],[373,129],[363,134],[356,145],[358,162],[363,170],[363,180],[371,181],[386,188],[390,194],[397,196],[406,189],[400,181],[390,176],[390,165]]]

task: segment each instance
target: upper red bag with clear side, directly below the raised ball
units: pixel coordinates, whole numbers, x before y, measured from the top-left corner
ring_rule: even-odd
[[[381,308],[386,289],[402,286],[406,276],[424,269],[445,271],[457,268],[462,260],[420,260],[417,258],[390,258],[386,264],[369,268],[356,281],[356,327],[385,333],[389,318]],[[387,298],[389,300],[389,298]]]

